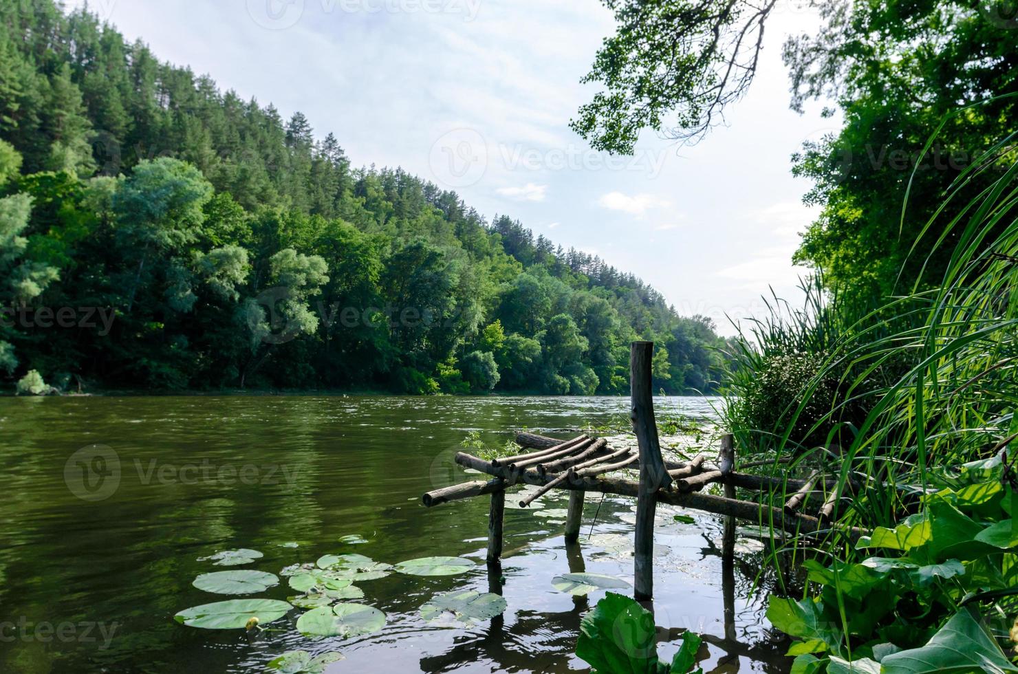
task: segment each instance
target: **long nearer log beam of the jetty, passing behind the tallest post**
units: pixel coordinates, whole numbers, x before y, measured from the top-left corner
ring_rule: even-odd
[[[511,471],[505,466],[493,466],[490,461],[485,461],[464,452],[456,454],[455,460],[456,463],[464,467],[480,470],[496,478],[505,478],[511,474]],[[534,487],[544,487],[550,482],[549,478],[539,474],[536,470],[521,470],[516,473],[515,478],[524,485],[533,485]],[[636,497],[639,494],[639,483],[622,478],[574,478],[571,481],[562,483],[560,489]],[[661,503],[693,508],[717,515],[732,515],[738,519],[755,522],[765,526],[773,525],[775,529],[783,529],[790,533],[813,533],[826,528],[826,525],[819,519],[811,515],[799,512],[789,515],[782,508],[751,501],[726,499],[721,496],[701,494],[699,492],[679,492],[678,490],[660,490],[657,493],[657,498]],[[857,526],[844,527],[837,530],[852,541],[868,533],[865,529]]]

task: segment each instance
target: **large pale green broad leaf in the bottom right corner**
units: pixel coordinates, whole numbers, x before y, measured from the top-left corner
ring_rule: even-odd
[[[971,609],[962,609],[925,645],[886,656],[884,674],[1018,672]]]

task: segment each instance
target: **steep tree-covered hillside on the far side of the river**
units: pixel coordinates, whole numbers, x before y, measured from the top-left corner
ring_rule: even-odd
[[[0,137],[8,385],[619,393],[647,338],[714,388],[708,320],[87,12],[0,5]]]

